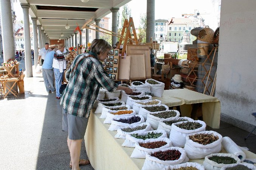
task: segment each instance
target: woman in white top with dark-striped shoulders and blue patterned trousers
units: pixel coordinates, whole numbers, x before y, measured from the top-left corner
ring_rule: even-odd
[[[66,69],[66,60],[63,52],[65,47],[59,44],[58,50],[54,53],[52,67],[55,76],[56,99],[60,99],[60,86],[63,80],[64,70]]]

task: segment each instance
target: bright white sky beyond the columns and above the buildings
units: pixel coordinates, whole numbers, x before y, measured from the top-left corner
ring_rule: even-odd
[[[182,14],[194,14],[195,10],[200,14],[211,14],[213,12],[212,2],[214,1],[216,0],[155,0],[155,19],[181,18]],[[23,12],[19,0],[17,2],[14,3],[14,10],[17,16],[16,20],[19,21],[23,20]],[[139,27],[140,15],[147,12],[147,0],[132,0],[128,6],[131,9],[134,26]],[[119,12],[121,16],[122,7]],[[112,18],[112,14],[106,15],[106,17]],[[109,28],[111,28],[111,20],[109,21]]]

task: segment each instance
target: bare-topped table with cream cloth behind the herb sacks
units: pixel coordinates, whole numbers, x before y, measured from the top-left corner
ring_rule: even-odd
[[[191,111],[198,107],[197,103],[202,103],[202,114],[204,122],[214,128],[219,128],[221,120],[221,102],[212,96],[198,93],[188,89],[165,90],[162,97],[153,97],[162,101],[169,107],[180,106],[182,116],[195,118],[195,113]]]

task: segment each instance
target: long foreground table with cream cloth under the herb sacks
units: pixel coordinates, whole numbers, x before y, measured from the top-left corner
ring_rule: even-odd
[[[124,139],[114,138],[117,131],[108,131],[110,124],[103,124],[101,114],[91,111],[85,133],[85,147],[91,165],[95,170],[141,170],[145,159],[130,158],[134,148],[122,147]],[[255,159],[256,154],[243,150],[246,158]],[[223,148],[223,153],[227,153]],[[204,159],[190,159],[203,164]]]

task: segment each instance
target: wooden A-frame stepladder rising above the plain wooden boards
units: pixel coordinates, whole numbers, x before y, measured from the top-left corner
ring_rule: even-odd
[[[133,30],[134,38],[131,37],[131,29]],[[125,30],[126,30],[126,32],[125,32]],[[122,49],[122,56],[123,56],[125,53],[127,42],[129,42],[130,44],[133,44],[133,41],[135,41],[136,45],[139,44],[132,17],[129,18],[129,22],[128,22],[128,19],[125,19],[125,22],[123,23],[121,35],[122,36],[119,39],[119,44],[118,44],[117,48],[119,49],[120,45],[122,45],[122,41],[124,41],[123,49]],[[124,38],[122,38],[122,37],[124,37]]]

